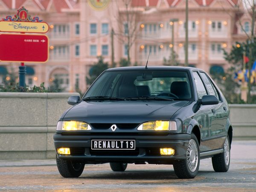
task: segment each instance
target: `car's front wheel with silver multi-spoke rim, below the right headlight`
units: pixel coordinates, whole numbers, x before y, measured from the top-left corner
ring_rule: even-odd
[[[186,160],[173,164],[174,172],[180,179],[192,179],[198,174],[200,164],[199,143],[195,134],[191,134],[186,150]]]

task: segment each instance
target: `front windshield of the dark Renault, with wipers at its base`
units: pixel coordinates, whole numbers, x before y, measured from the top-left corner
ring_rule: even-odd
[[[188,73],[177,70],[106,71],[90,87],[84,100],[190,100]]]

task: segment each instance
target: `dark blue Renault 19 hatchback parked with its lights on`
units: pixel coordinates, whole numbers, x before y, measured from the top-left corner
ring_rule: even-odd
[[[216,172],[230,166],[232,125],[217,85],[192,67],[119,67],[105,70],[60,117],[54,145],[63,177],[79,177],[87,163],[173,165],[194,178],[200,159]],[[167,166],[168,167],[168,166]]]

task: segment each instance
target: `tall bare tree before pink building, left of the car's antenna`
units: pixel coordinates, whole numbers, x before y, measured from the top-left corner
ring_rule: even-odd
[[[115,32],[119,41],[126,46],[129,64],[131,63],[130,49],[137,38],[138,20],[141,13],[141,10],[133,7],[131,3],[132,0],[117,0],[119,12],[116,20],[119,24],[119,31]]]

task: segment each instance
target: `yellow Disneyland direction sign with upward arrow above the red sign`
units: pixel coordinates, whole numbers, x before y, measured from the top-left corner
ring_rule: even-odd
[[[45,22],[0,20],[0,32],[46,33],[49,25]]]

